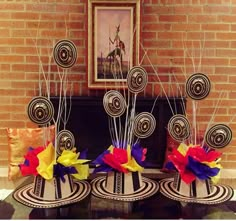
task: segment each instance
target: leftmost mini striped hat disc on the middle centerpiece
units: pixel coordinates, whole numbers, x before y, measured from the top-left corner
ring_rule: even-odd
[[[110,90],[103,97],[103,106],[108,115],[119,117],[125,112],[126,102],[120,92]]]

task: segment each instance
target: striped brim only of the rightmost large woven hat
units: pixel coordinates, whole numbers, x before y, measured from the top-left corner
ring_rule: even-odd
[[[176,201],[201,204],[219,204],[230,200],[234,195],[233,188],[227,185],[213,185],[212,188],[212,193],[207,197],[194,198],[181,195],[178,191],[176,191],[174,188],[173,179],[167,178],[160,181],[160,192],[164,196]]]

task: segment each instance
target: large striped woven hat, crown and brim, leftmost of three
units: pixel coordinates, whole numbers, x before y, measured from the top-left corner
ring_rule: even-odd
[[[33,183],[15,190],[13,198],[29,207],[53,208],[76,203],[90,193],[87,181],[74,181],[70,175],[64,178],[65,182],[60,177],[46,180],[38,175]]]

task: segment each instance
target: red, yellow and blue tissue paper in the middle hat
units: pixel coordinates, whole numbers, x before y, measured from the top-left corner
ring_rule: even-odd
[[[118,171],[122,173],[142,172],[146,159],[147,149],[142,148],[136,143],[126,149],[111,145],[107,150],[100,154],[92,163],[96,166],[96,172]]]

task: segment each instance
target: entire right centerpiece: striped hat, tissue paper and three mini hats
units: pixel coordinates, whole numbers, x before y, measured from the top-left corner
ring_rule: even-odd
[[[192,74],[186,82],[186,93],[192,100],[206,98],[210,93],[210,88],[210,80],[202,73]],[[193,105],[194,115],[196,114],[196,106],[194,103]],[[195,123],[193,122],[193,125]],[[186,116],[176,114],[168,122],[168,131],[172,138],[178,142],[189,139],[190,142],[187,143],[191,144],[193,140],[196,143],[198,138],[197,127],[192,128],[195,133],[192,134],[193,140],[191,141],[190,126]],[[188,181],[184,182],[180,174],[176,173],[174,178],[160,181],[160,192],[170,199],[187,203],[218,204],[230,200],[234,194],[232,187],[220,184],[214,185],[210,177],[217,176],[221,168],[218,163],[220,154],[215,152],[214,149],[224,148],[231,139],[232,133],[230,128],[224,124],[217,124],[206,131],[203,140],[200,141],[201,145],[195,144],[192,147],[187,147],[184,143],[181,144],[177,149],[178,151],[173,150],[172,153],[174,154],[172,155],[171,153],[168,158],[179,172],[183,169],[184,163],[187,162],[188,165],[183,169],[184,172],[187,171],[185,175],[187,173],[194,174],[196,179],[191,179],[189,183]],[[189,150],[190,152],[188,152]],[[211,163],[214,166],[209,166]],[[206,174],[203,175],[203,173]],[[199,179],[197,175],[201,178],[204,177],[204,179]]]

